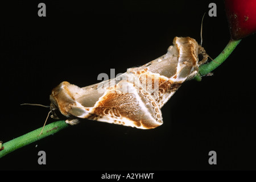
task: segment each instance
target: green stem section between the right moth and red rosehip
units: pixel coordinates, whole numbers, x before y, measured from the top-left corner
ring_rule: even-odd
[[[203,64],[199,67],[199,74],[197,74],[194,79],[196,81],[201,81],[201,77],[207,75],[208,73],[212,72],[216,69],[221,63],[223,63],[229,55],[234,51],[237,45],[241,42],[240,40],[230,40],[228,45],[224,48],[224,50],[218,55],[214,61],[210,61],[210,63]]]

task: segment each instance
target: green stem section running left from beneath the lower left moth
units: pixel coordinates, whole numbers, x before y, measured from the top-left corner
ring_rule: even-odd
[[[18,148],[26,146],[27,144],[36,142],[37,140],[55,134],[66,127],[68,127],[68,124],[65,123],[65,121],[56,121],[46,125],[44,127],[43,133],[40,136],[39,134],[43,127],[40,127],[39,129],[31,131],[30,133],[24,134],[18,138],[10,140],[9,142],[3,143],[2,147],[4,148],[2,151],[0,151],[0,158],[5,156],[6,154],[9,154],[10,152],[13,152],[14,150],[17,150]]]

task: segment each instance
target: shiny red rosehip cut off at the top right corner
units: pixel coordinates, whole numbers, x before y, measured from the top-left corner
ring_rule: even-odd
[[[225,0],[231,38],[242,39],[256,31],[256,0]]]

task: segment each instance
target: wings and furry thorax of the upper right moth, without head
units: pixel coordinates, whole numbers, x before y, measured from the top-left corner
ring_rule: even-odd
[[[184,81],[197,74],[198,48],[195,39],[176,37],[166,55],[142,67],[130,68],[127,72],[138,77],[144,90],[154,93],[156,102],[162,108]]]

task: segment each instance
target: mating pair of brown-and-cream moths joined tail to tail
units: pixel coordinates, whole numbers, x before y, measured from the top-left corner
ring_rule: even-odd
[[[175,37],[165,55],[98,84],[61,82],[52,90],[51,117],[76,125],[82,118],[154,129],[163,124],[161,108],[184,81],[197,75],[208,55],[195,39]]]

